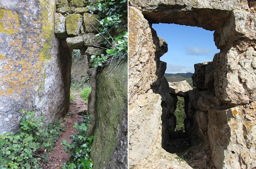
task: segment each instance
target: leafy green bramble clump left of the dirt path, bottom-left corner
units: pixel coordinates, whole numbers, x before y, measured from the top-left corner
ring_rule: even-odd
[[[42,152],[51,151],[52,144],[57,141],[60,131],[58,121],[50,123],[43,129],[43,117],[34,118],[35,112],[21,111],[27,114],[22,117],[20,131],[0,135],[0,168],[1,169],[38,169],[41,160],[48,155]]]

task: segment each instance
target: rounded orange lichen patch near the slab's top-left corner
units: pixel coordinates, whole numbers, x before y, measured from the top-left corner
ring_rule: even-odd
[[[15,11],[0,8],[0,32],[12,34],[18,32],[20,21]]]

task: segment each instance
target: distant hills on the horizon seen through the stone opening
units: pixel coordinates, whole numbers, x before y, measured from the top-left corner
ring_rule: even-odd
[[[193,80],[191,76],[193,73],[165,73],[164,77],[167,79],[168,82],[180,82],[186,80],[191,87],[193,87]]]

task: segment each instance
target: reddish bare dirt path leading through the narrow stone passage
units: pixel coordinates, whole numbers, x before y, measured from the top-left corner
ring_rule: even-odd
[[[40,165],[43,169],[61,169],[63,163],[70,160],[70,155],[63,150],[65,146],[60,145],[60,143],[62,143],[63,139],[66,139],[71,143],[70,135],[76,134],[76,129],[73,128],[74,123],[82,117],[81,115],[78,115],[78,113],[87,110],[86,102],[80,97],[80,93],[77,91],[71,91],[71,93],[75,96],[75,99],[70,103],[70,107],[64,117],[64,122],[67,124],[66,131],[63,133],[59,141],[56,142],[56,147],[54,147],[53,153],[49,153],[50,155],[47,162]]]

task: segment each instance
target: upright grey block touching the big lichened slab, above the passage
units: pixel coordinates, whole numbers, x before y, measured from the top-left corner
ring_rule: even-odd
[[[66,32],[66,17],[60,13],[55,13],[54,32],[60,39],[68,36]]]

